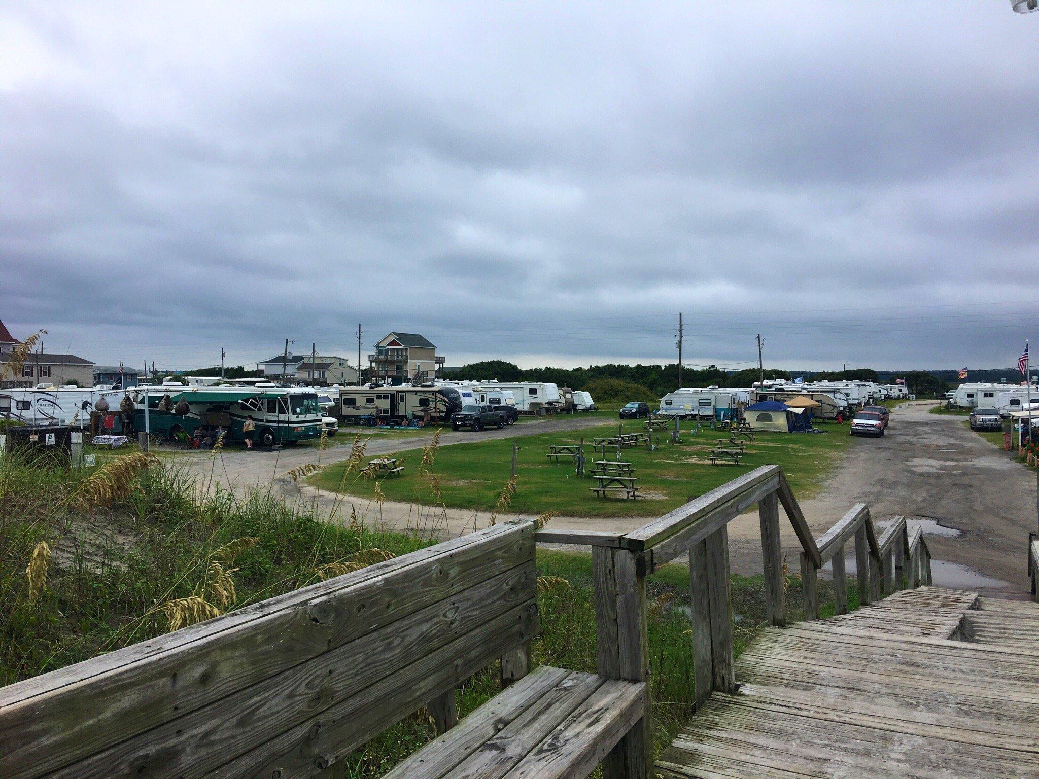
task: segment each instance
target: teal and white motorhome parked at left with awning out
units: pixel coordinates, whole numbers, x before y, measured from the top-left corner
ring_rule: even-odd
[[[134,404],[134,429],[144,430],[144,399],[148,398],[148,429],[160,438],[194,434],[198,428],[227,430],[225,440],[244,440],[242,423],[256,422],[256,441],[261,446],[293,445],[321,436],[323,413],[314,390],[239,386],[138,386],[112,394],[112,410],[122,398]]]

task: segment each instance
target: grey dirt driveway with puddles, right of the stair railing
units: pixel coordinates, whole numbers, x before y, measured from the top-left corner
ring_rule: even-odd
[[[856,441],[818,496],[802,502],[805,517],[822,533],[859,502],[881,522],[901,514],[923,525],[936,585],[1020,591],[1037,522],[1036,474],[971,432],[965,418],[929,413],[933,405],[899,406],[884,437]],[[735,571],[761,570],[760,532],[756,515],[729,526]],[[797,570],[793,531],[783,552]]]

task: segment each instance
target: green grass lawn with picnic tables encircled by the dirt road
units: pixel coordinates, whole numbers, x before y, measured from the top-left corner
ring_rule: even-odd
[[[642,432],[642,422],[623,426],[627,432]],[[747,445],[747,454],[739,465],[712,465],[710,450],[717,447],[719,437],[727,434],[710,428],[699,435],[683,429],[682,442],[672,445],[667,436],[655,434],[656,451],[646,447],[625,449],[621,459],[631,462],[638,477],[641,490],[639,500],[596,499],[590,487],[595,482],[578,478],[571,462],[552,462],[545,457],[550,444],[578,444],[582,436],[586,444],[596,436],[617,432],[618,425],[609,424],[572,432],[541,433],[517,439],[516,493],[511,501],[512,512],[539,514],[554,511],[576,516],[659,516],[686,503],[690,496],[699,495],[724,484],[760,465],[781,465],[799,496],[812,494],[821,480],[835,465],[841,452],[850,445],[846,426],[829,425],[826,434],[762,433],[753,444]],[[511,473],[513,440],[480,440],[474,434],[473,444],[460,444],[441,449],[431,466],[444,503],[449,507],[489,511],[498,502],[502,488]],[[588,447],[590,460],[597,458]],[[608,459],[616,458],[610,450]],[[399,460],[404,474],[399,478],[380,480],[388,500],[405,503],[431,504],[433,486],[427,476],[420,477],[419,452],[402,453]],[[325,489],[343,487],[347,492],[369,496],[373,486],[370,481],[348,475],[344,480],[346,463],[336,463],[324,472],[311,477],[311,483]]]

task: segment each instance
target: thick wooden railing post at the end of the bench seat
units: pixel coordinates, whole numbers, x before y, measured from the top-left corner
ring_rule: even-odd
[[[646,682],[646,708],[642,719],[603,760],[604,779],[645,779],[652,776],[645,574],[644,553],[609,546],[592,547],[598,673],[613,679]]]

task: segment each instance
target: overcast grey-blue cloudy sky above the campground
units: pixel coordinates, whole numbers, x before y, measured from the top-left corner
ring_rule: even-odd
[[[529,367],[673,360],[681,311],[689,364],[1012,366],[1037,54],[1008,0],[5,2],[0,320]]]

